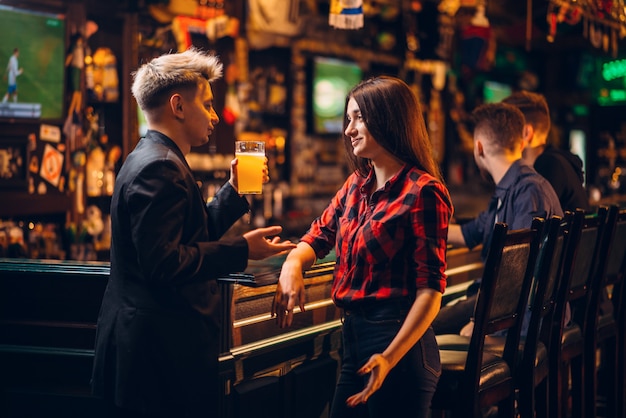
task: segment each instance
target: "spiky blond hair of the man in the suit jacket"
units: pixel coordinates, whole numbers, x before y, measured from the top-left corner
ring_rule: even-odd
[[[222,76],[223,65],[215,55],[191,47],[185,52],[165,54],[142,65],[133,73],[131,91],[142,110],[154,109],[176,88],[195,87]]]

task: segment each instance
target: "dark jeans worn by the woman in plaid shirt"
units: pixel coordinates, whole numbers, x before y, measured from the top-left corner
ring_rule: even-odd
[[[441,375],[439,347],[431,328],[394,367],[365,405],[350,408],[346,400],[362,391],[369,374],[356,371],[375,353],[382,353],[396,336],[410,308],[381,303],[344,311],[343,358],[331,418],[426,418]]]

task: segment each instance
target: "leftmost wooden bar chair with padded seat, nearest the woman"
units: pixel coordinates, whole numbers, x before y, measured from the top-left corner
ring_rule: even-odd
[[[474,310],[474,331],[467,350],[441,350],[442,374],[432,401],[433,416],[482,417],[498,407],[513,417],[519,340],[540,235],[537,229],[508,231],[496,223]],[[503,352],[485,351],[487,336],[506,332]]]

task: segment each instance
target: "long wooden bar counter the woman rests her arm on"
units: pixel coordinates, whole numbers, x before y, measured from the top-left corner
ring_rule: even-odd
[[[220,417],[328,414],[341,346],[341,312],[330,299],[334,256],[305,273],[306,309],[296,309],[289,329],[270,317],[283,261],[251,261],[244,274],[220,280],[230,318]],[[448,266],[451,293],[482,272],[478,250],[449,250]],[[0,416],[102,416],[89,380],[108,275],[106,262],[0,259]]]

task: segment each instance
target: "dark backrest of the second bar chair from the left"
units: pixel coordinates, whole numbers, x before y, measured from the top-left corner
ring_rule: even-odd
[[[537,344],[542,342],[549,349],[551,321],[565,253],[565,235],[570,222],[571,218],[553,216],[545,224],[530,291],[530,318],[522,358],[522,367],[529,370],[534,369]]]

